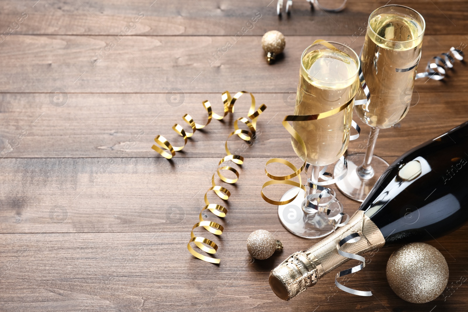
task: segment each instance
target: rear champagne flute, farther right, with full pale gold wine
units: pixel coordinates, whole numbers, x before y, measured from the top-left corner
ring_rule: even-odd
[[[370,97],[363,105],[356,103],[355,112],[371,131],[363,147],[366,152],[357,150],[346,157],[348,174],[336,183],[351,199],[364,201],[388,168],[387,161],[373,155],[375,142],[380,129],[390,128],[408,113],[424,29],[423,16],[409,7],[387,5],[369,16],[361,66]]]

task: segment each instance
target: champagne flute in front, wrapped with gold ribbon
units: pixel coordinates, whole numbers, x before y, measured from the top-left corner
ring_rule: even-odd
[[[344,162],[342,156],[350,140],[354,96],[360,87],[358,70],[358,55],[343,44],[315,42],[302,53],[294,115],[320,114],[321,117],[292,121],[292,128],[306,146],[304,151],[291,137],[294,152],[307,162],[306,172],[310,174],[307,177],[308,194],[306,198],[300,189],[294,201],[278,206],[281,223],[300,237],[319,238],[333,232],[335,225],[329,222],[329,216],[343,211],[341,203],[334,200],[335,192],[320,186],[327,182],[319,182],[319,179],[327,179],[322,175],[323,170],[321,172],[323,166],[340,158]],[[338,163],[335,167],[345,172],[343,165]],[[322,193],[323,190],[326,192]],[[297,192],[297,188],[290,189],[281,201],[292,198]],[[321,193],[323,197],[318,198]],[[324,205],[328,211],[315,209]]]

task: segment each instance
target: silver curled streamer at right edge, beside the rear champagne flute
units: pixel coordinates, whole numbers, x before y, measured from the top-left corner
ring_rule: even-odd
[[[464,57],[463,51],[450,48],[447,53],[441,53],[427,62],[426,71],[417,73],[416,79],[427,77],[432,80],[442,80],[445,78],[446,68],[453,68],[455,60],[462,61]]]

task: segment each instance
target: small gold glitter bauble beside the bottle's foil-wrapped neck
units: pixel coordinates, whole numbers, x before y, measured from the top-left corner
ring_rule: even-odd
[[[249,254],[258,260],[270,258],[275,250],[283,248],[283,244],[266,230],[256,230],[247,239]]]

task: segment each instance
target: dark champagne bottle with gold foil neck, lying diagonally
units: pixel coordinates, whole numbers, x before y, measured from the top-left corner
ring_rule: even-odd
[[[468,220],[468,122],[403,154],[376,182],[348,224],[270,273],[270,286],[290,300],[350,258],[377,247],[435,239]]]

